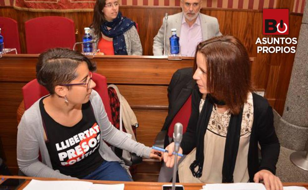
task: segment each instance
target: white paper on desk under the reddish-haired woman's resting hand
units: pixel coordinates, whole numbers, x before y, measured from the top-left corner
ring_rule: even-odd
[[[266,190],[262,183],[213,183],[202,186],[206,190]]]

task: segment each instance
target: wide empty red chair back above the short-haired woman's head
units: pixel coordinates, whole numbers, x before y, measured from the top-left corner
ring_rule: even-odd
[[[54,47],[73,49],[75,24],[65,17],[38,17],[25,22],[27,53],[42,53]]]

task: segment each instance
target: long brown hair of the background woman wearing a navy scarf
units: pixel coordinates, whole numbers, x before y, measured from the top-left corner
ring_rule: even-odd
[[[100,33],[100,25],[105,22],[104,13],[102,12],[103,8],[106,5],[106,0],[96,0],[94,11],[93,11],[93,22],[90,25],[94,29],[94,34],[101,38],[102,34]]]

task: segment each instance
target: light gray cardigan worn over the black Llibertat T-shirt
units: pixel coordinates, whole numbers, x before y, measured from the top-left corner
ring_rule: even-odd
[[[97,123],[100,126],[99,153],[106,161],[117,161],[124,165],[111,148],[103,141],[115,147],[122,148],[137,156],[149,158],[151,148],[128,138],[117,130],[109,121],[100,95],[92,91],[90,102],[94,110]],[[38,160],[38,151],[42,161]],[[49,153],[44,141],[44,128],[39,109],[39,100],[25,111],[18,125],[17,133],[17,162],[20,170],[27,176],[44,178],[72,178],[61,174],[59,170],[53,170]]]

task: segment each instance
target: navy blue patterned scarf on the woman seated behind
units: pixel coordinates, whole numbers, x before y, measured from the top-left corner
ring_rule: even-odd
[[[129,18],[122,17],[119,11],[118,15],[111,22],[105,21],[100,25],[100,31],[107,37],[113,38],[113,49],[115,55],[127,55],[126,43],[123,33],[129,30],[132,26],[136,27],[136,23]],[[107,27],[111,29],[108,30]]]

